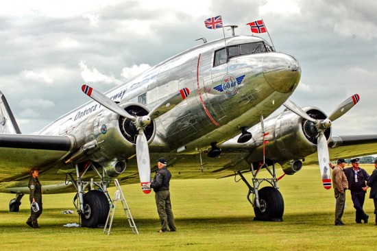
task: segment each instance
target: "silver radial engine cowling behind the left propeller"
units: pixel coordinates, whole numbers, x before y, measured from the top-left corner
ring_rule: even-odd
[[[148,115],[149,112],[145,106],[137,103],[125,103],[120,104],[120,106],[135,117]],[[107,166],[106,168],[110,174],[117,174],[117,170],[123,168],[123,164],[119,160],[125,160],[136,154],[135,144],[138,130],[134,122],[110,110],[105,109],[97,117],[88,119],[84,132],[82,145],[90,141],[96,141],[100,148],[87,157],[102,166]],[[148,144],[151,143],[156,134],[154,121],[145,127],[144,134]],[[118,162],[111,165],[103,164],[112,163],[114,160],[118,160]]]

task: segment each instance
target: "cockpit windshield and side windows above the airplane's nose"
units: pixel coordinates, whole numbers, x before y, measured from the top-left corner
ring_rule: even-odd
[[[228,53],[227,53],[228,51]],[[231,45],[215,51],[215,61],[213,66],[224,64],[229,58],[241,55],[247,55],[252,53],[260,53],[267,51],[275,51],[273,47],[263,42],[247,43],[241,45]]]

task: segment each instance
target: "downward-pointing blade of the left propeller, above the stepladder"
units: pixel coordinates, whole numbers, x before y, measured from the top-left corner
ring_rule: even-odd
[[[149,160],[149,149],[147,138],[144,130],[138,130],[138,137],[136,138],[136,159],[138,163],[138,175],[140,176],[141,189],[144,193],[150,193],[151,189],[143,187],[143,184],[151,183],[151,165]]]

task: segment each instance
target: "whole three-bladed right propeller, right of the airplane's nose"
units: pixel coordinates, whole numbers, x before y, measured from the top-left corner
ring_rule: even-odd
[[[317,154],[319,169],[321,171],[322,183],[325,189],[331,188],[331,177],[330,177],[330,157],[328,154],[328,144],[324,131],[330,128],[332,121],[339,119],[343,116],[345,112],[348,112],[354,105],[358,103],[360,96],[358,94],[352,95],[348,99],[345,99],[326,119],[313,119],[306,114],[299,106],[296,106],[292,101],[287,100],[283,104],[292,112],[299,115],[300,117],[313,122],[315,129],[317,130]]]

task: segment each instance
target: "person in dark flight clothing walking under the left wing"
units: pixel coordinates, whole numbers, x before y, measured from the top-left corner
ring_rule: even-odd
[[[29,184],[27,185],[30,190],[29,194],[29,200],[30,203],[36,202],[38,203],[39,210],[34,212],[33,209],[31,209],[32,213],[27,219],[26,224],[31,226],[32,228],[39,228],[38,226],[38,217],[42,214],[42,186],[40,185],[40,182],[38,180],[38,169],[32,168],[30,170],[30,179]]]

